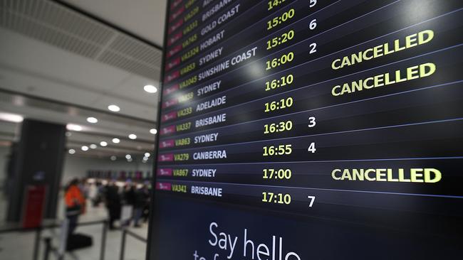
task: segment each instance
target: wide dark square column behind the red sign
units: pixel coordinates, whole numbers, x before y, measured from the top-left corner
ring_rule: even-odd
[[[41,201],[43,214],[39,217],[56,218],[65,147],[66,126],[23,121],[9,190],[8,221],[23,220]],[[44,199],[37,192],[32,193],[33,189],[44,189]]]

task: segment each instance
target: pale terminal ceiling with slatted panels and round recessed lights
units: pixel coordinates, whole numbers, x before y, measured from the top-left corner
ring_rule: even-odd
[[[82,126],[68,136],[68,148],[78,155],[109,158],[152,151],[150,129],[157,128],[160,91],[150,94],[143,87],[160,85],[157,45],[164,34],[165,4],[1,1],[0,113]],[[110,112],[110,104],[120,112]],[[88,117],[98,123],[88,123]],[[19,125],[0,118],[0,142],[17,139]],[[109,145],[80,150],[100,141]]]

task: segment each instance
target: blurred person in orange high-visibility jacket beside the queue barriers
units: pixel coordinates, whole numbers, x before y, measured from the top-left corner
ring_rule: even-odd
[[[79,215],[85,213],[85,197],[78,183],[78,179],[71,180],[64,195],[66,218],[69,220],[68,236],[76,230]]]

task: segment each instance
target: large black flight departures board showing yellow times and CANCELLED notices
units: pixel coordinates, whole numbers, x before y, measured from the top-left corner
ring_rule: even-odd
[[[149,258],[461,257],[462,8],[168,1]]]

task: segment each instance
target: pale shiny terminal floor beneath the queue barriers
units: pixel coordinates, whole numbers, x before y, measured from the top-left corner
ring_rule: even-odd
[[[6,202],[0,197],[0,217],[4,220],[3,216],[6,211]],[[61,216],[63,214],[60,214]],[[93,220],[102,220],[106,217],[107,213],[105,207],[89,208],[87,214],[80,217],[80,222],[88,222]],[[147,224],[142,228],[130,228],[132,232],[140,234],[142,237],[147,237]],[[80,259],[80,260],[99,260],[100,259],[100,243],[101,234],[103,231],[102,225],[78,227],[76,232],[88,234],[93,237],[93,247],[88,249],[80,249],[74,254],[66,254],[65,259]],[[58,245],[59,229],[44,231],[42,237],[55,237],[53,239],[54,245]],[[120,245],[121,245],[120,230],[108,231],[105,259],[119,259]],[[34,232],[13,232],[7,234],[0,234],[0,260],[28,260],[32,259],[33,255],[33,242]],[[39,259],[43,259],[43,242],[41,242]],[[126,260],[144,260],[145,259],[146,244],[128,237],[125,245],[125,259]],[[51,257],[51,259],[55,259]]]

